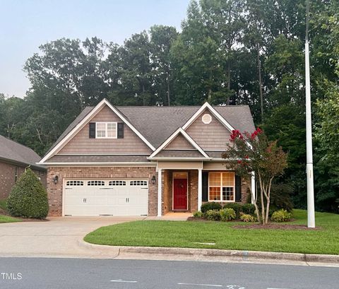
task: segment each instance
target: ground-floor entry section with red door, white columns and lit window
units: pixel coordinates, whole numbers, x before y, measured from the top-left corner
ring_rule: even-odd
[[[247,184],[222,163],[157,163],[157,217],[194,213],[208,201],[246,203],[248,194]]]

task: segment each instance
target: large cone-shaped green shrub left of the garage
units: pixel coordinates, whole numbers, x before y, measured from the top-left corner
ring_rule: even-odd
[[[48,214],[47,192],[32,170],[26,170],[7,200],[8,213],[15,217],[44,219]]]

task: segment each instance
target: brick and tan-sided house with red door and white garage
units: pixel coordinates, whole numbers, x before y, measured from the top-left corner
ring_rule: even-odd
[[[225,167],[233,129],[254,131],[248,106],[86,107],[38,163],[50,216],[162,216],[206,201],[246,202]]]

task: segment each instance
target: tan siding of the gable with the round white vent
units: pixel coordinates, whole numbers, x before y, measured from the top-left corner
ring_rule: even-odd
[[[212,116],[210,124],[204,124],[201,120],[203,114]],[[223,150],[230,140],[230,131],[221,124],[208,110],[202,112],[198,118],[186,129],[186,133],[198,143],[203,150]]]

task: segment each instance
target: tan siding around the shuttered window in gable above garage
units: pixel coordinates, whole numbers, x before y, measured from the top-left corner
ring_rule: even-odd
[[[105,106],[90,122],[122,122],[112,110]],[[89,138],[86,124],[58,154],[95,153],[152,153],[150,148],[125,124],[124,138]]]

